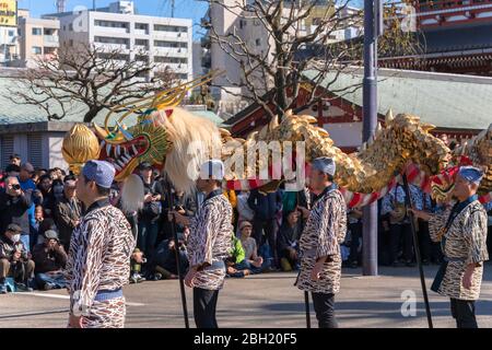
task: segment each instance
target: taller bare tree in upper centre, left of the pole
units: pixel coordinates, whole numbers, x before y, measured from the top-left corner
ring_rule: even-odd
[[[206,0],[210,9],[221,9],[235,16],[229,27],[220,27],[216,16],[203,25],[211,45],[232,58],[241,78],[226,78],[226,93],[259,104],[273,117],[282,117],[294,107],[304,81],[303,72],[315,71],[306,104],[320,98],[318,86],[329,88],[362,57],[362,40],[337,42],[340,31],[361,28],[363,12],[351,8],[351,0]],[[248,38],[253,27],[259,33],[255,45]],[[399,31],[399,30],[398,30]],[[387,36],[400,36],[398,31]],[[399,31],[401,32],[401,31]],[[386,43],[394,43],[386,40]],[[405,43],[406,45],[410,44]],[[259,46],[259,48],[257,47]],[[353,90],[354,86],[347,86]]]

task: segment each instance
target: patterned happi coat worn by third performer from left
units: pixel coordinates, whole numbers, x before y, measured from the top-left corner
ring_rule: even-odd
[[[300,240],[301,271],[297,288],[314,293],[338,293],[340,290],[340,243],[347,233],[347,205],[338,189],[327,190],[315,200]],[[311,279],[316,260],[330,256],[318,281]]]

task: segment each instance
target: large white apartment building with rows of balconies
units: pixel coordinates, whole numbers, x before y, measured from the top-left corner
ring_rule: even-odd
[[[102,50],[119,50],[121,60],[155,63],[155,70],[168,68],[178,79],[192,78],[190,19],[136,14],[132,1],[118,1],[96,11],[52,15],[60,21],[63,47],[84,44]]]

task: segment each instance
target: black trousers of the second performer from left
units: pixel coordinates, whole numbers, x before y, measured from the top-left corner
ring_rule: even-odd
[[[197,328],[219,328],[215,307],[219,291],[194,288],[194,315]]]

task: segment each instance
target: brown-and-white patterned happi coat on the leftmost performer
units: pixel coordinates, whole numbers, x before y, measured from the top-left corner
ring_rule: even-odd
[[[124,213],[107,199],[92,205],[75,228],[66,267],[70,312],[82,310],[85,328],[121,328],[125,298],[95,301],[97,291],[114,291],[128,283],[130,256],[136,246]]]

